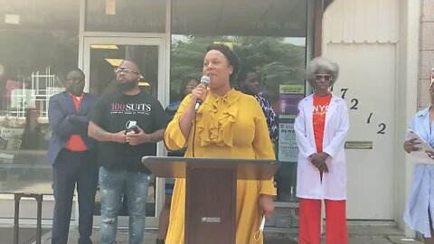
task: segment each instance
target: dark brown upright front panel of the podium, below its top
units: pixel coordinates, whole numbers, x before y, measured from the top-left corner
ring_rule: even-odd
[[[237,181],[234,168],[187,169],[185,244],[235,244]]]

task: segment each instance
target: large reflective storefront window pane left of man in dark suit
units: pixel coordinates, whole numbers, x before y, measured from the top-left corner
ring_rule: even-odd
[[[79,1],[0,0],[0,188],[52,192],[48,99],[77,67]],[[31,192],[32,192],[31,191]]]

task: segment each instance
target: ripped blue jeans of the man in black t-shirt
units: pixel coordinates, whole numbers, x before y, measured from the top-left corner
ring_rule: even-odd
[[[99,194],[101,197],[101,244],[116,243],[118,211],[122,195],[127,195],[129,215],[129,243],[141,244],[145,232],[146,197],[149,174],[99,168]]]

